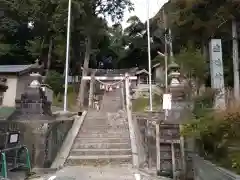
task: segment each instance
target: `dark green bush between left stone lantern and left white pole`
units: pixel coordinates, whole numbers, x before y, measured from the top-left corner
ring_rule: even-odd
[[[51,86],[55,95],[63,93],[64,79],[60,73],[56,71],[49,71],[45,83]]]

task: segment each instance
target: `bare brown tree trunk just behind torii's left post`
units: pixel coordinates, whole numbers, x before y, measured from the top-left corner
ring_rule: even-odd
[[[82,77],[87,76],[90,54],[91,54],[91,37],[88,35],[86,40],[86,51],[85,51],[85,57],[84,57],[84,63],[83,63]],[[83,80],[82,78],[79,92],[78,92],[78,106],[80,109],[83,108],[83,105],[84,105],[85,87],[86,87],[86,80]]]

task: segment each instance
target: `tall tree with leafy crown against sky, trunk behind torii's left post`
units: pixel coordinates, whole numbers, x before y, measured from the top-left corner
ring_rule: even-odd
[[[129,0],[114,0],[114,1],[104,1],[104,0],[85,0],[84,1],[84,12],[86,13],[85,16],[85,28],[84,28],[84,35],[85,35],[85,56],[84,56],[84,63],[83,63],[83,71],[82,76],[87,75],[87,70],[89,67],[89,60],[92,52],[92,41],[96,35],[104,34],[106,25],[99,16],[105,17],[106,15],[111,16],[113,21],[119,21],[123,17],[123,13],[126,7],[129,7],[131,10],[131,2]],[[87,21],[87,22],[86,22]],[[98,33],[96,33],[98,32]],[[83,107],[84,103],[84,92],[85,92],[86,81],[81,80],[81,85],[79,89],[79,107]]]

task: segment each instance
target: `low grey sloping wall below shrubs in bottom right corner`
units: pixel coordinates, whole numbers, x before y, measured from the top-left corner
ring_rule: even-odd
[[[194,155],[194,180],[240,180],[240,176]]]

